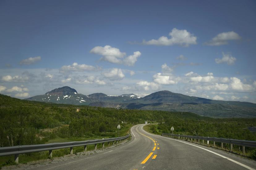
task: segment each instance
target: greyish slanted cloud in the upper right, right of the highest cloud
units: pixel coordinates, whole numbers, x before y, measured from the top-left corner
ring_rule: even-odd
[[[211,39],[211,41],[204,43],[205,45],[211,45],[211,46],[219,46],[228,44],[229,40],[238,40],[241,39],[241,37],[235,33],[234,31],[229,32],[223,32],[218,35],[216,35],[214,38]]]

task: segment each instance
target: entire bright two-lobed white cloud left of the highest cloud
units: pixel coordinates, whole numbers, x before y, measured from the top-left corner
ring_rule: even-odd
[[[137,61],[137,58],[141,55],[141,52],[136,51],[133,52],[133,55],[124,58],[124,56],[126,55],[125,52],[120,52],[118,48],[111,47],[110,45],[106,45],[104,47],[96,46],[92,48],[90,53],[103,56],[100,60],[104,60],[114,64],[124,64],[128,66],[133,66]]]

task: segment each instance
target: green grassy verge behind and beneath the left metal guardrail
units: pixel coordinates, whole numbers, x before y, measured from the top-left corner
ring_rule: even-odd
[[[131,124],[128,125],[121,125],[121,129],[119,130],[119,136],[125,136],[128,133],[130,133],[130,128],[134,126]],[[115,132],[116,137],[118,136],[118,130]],[[90,138],[60,138],[56,137],[54,139],[50,139],[46,143],[61,143],[61,142],[72,142],[72,141],[84,141],[84,140],[94,140],[94,139],[102,139],[102,138],[113,138],[112,136],[92,136]],[[110,146],[112,144],[110,143]],[[105,147],[107,147],[108,144],[105,143]],[[97,149],[102,148],[102,143],[97,144]],[[73,154],[77,154],[79,152],[83,152],[83,146],[82,147],[74,147],[73,148]],[[87,146],[87,151],[94,150],[94,145],[88,145]],[[65,148],[65,149],[58,149],[58,150],[53,150],[53,157],[51,159],[54,159],[56,157],[61,157],[64,155],[68,155],[70,152],[70,148]],[[28,162],[31,161],[38,161],[38,160],[46,160],[48,159],[49,156],[49,151],[42,151],[42,152],[34,152],[34,153],[28,153],[28,154],[21,154],[19,155],[19,164],[27,164]],[[0,168],[2,166],[8,166],[8,165],[15,165],[16,163],[14,162],[14,155],[10,156],[1,156],[0,157]]]

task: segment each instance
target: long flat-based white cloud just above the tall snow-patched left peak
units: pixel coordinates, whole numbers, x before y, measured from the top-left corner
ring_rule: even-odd
[[[60,68],[61,72],[66,72],[66,71],[93,71],[96,70],[96,67],[92,65],[87,65],[87,64],[78,64],[78,63],[73,63],[72,65],[63,65]]]

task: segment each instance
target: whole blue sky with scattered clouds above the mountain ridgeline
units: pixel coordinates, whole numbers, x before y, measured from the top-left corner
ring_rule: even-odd
[[[255,1],[0,2],[0,93],[68,85],[256,103]],[[75,63],[75,64],[74,64]]]

